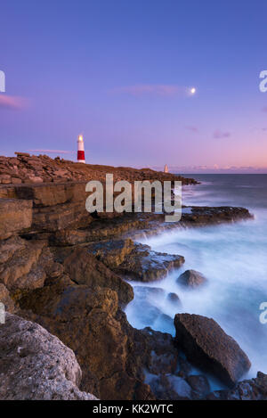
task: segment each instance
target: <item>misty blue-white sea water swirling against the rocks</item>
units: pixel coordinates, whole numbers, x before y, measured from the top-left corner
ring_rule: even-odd
[[[243,378],[255,377],[258,371],[267,373],[267,324],[259,319],[259,307],[267,302],[267,175],[190,176],[201,184],[183,188],[183,204],[242,206],[255,218],[144,237],[142,242],[152,250],[181,254],[185,264],[158,282],[131,282],[134,300],[125,313],[136,328],[151,326],[173,335],[172,321],[178,312],[212,317],[250,358],[252,367]],[[206,276],[206,286],[185,290],[176,283],[190,268]],[[168,292],[179,296],[180,307],[167,300]]]

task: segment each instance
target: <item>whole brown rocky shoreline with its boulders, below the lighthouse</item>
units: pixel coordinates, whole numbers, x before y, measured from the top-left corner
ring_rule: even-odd
[[[178,278],[184,262],[139,236],[252,215],[190,207],[179,225],[166,225],[161,214],[90,215],[85,183],[106,172],[128,181],[196,183],[149,169],[0,157],[0,301],[9,313],[0,324],[0,398],[266,399],[267,376],[239,382],[250,367],[246,353],[213,319],[179,314],[179,295],[168,295],[177,304],[174,338],[134,329],[124,313],[138,291],[132,280],[157,281],[173,269]],[[205,282],[193,271],[178,280],[191,288]],[[201,373],[192,373],[194,366]],[[206,373],[229,389],[211,392]]]

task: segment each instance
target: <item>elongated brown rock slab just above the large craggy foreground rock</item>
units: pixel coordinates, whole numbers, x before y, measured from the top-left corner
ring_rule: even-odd
[[[107,287],[117,291],[118,299],[122,304],[134,299],[132,286],[109,270],[107,266],[84,248],[73,250],[69,257],[65,259],[64,268],[76,283],[86,284],[93,289]]]

